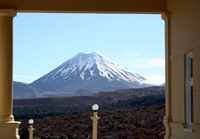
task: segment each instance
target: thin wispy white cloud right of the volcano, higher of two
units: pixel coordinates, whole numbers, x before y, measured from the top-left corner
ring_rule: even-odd
[[[153,58],[153,59],[135,59],[133,63],[134,67],[137,68],[164,68],[165,59]]]

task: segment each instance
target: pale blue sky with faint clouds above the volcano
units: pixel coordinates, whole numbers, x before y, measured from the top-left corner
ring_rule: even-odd
[[[164,83],[160,15],[18,13],[14,18],[14,81],[30,83],[77,53],[94,51]]]

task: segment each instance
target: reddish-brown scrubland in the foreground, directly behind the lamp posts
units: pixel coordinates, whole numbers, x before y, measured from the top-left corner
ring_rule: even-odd
[[[101,112],[98,114],[98,139],[105,135],[132,137],[140,139],[162,139],[164,132],[164,105],[139,107],[120,111]],[[91,114],[46,117],[36,119],[34,123],[35,136],[50,136],[66,134],[78,139],[91,139]],[[28,121],[23,120],[21,133],[28,128]]]

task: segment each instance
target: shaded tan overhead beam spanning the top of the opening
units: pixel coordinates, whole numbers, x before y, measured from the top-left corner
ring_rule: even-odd
[[[0,9],[46,13],[161,13],[166,0],[1,0]]]

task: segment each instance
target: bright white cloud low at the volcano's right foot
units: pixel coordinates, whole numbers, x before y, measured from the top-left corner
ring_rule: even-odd
[[[150,75],[150,76],[146,76],[146,79],[149,80],[150,84],[153,85],[163,85],[165,83],[165,76],[163,75]]]

